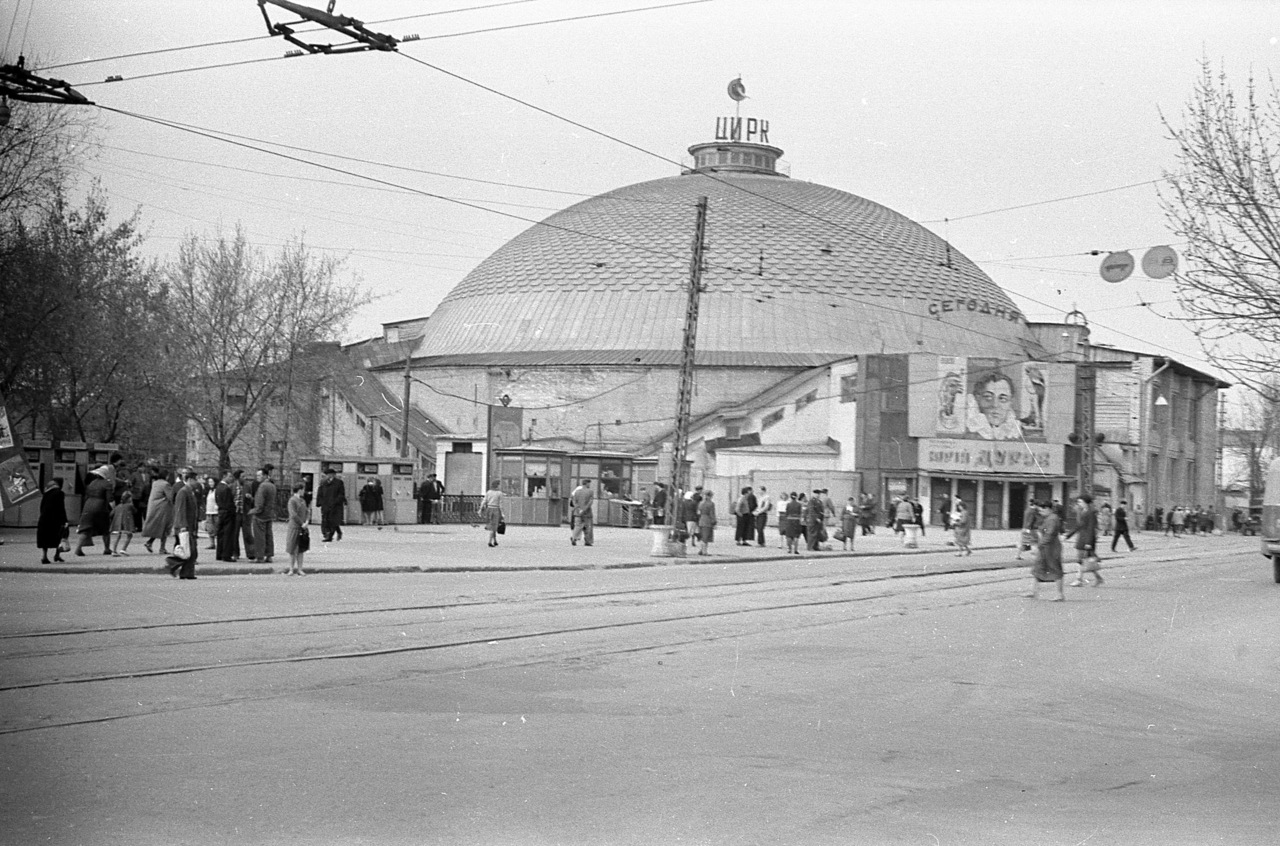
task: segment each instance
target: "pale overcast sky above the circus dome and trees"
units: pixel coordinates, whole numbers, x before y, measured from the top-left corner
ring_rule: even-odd
[[[1249,73],[1265,79],[1276,70],[1274,3],[712,0],[443,37],[669,1],[338,0],[338,14],[421,40],[402,45],[404,55],[187,73],[164,72],[278,58],[291,45],[265,37],[253,0],[6,0],[0,35],[5,61],[23,47],[40,58],[37,70],[102,106],[237,133],[253,146],[349,156],[284,150],[503,212],[100,113],[104,147],[90,173],[119,216],[141,209],[148,250],[172,255],[186,233],[216,235],[237,224],[264,246],[303,233],[346,257],[380,297],[355,316],[348,340],[430,314],[530,223],[586,196],[678,173],[663,159],[680,161],[689,145],[713,140],[716,118],[733,114],[726,84],[741,76],[750,97],[742,116],[769,120],[794,178],[922,223],[952,219],[928,225],[1030,320],[1079,307],[1096,343],[1217,372],[1183,324],[1153,314],[1176,310],[1170,280],[1138,270],[1108,284],[1098,276],[1101,257],[1085,253],[1130,250],[1140,261],[1148,247],[1178,246],[1156,186],[1108,189],[1158,179],[1174,165],[1160,115],[1180,123],[1202,59],[1239,86]],[[493,8],[443,14],[468,6]],[[293,19],[276,8],[271,15]],[[389,20],[404,15],[430,17]],[[115,58],[241,38],[251,41]],[[86,59],[108,60],[50,67]],[[156,73],[164,76],[140,78]],[[124,79],[102,83],[115,74]],[[1092,192],[1106,193],[1043,202]],[[1025,204],[1042,205],[968,216]]]

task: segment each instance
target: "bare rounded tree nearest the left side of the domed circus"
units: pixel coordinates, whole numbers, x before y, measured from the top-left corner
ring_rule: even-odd
[[[268,257],[241,229],[232,238],[183,243],[168,269],[168,317],[160,380],[201,436],[230,466],[246,427],[276,413],[288,420],[297,361],[316,342],[337,338],[370,302],[339,280],[340,262],[312,255],[301,239]],[[271,408],[280,408],[273,412]]]

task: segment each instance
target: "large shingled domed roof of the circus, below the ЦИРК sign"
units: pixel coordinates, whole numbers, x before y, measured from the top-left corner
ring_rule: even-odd
[[[611,191],[516,235],[440,302],[415,360],[677,362],[704,196],[699,363],[1034,348],[1009,296],[899,212],[769,170],[703,169]]]

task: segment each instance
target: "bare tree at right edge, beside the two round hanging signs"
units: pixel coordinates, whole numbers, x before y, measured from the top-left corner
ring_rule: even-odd
[[[1257,390],[1280,370],[1280,96],[1251,77],[1238,96],[1202,65],[1161,205],[1187,241],[1178,296],[1210,358]]]

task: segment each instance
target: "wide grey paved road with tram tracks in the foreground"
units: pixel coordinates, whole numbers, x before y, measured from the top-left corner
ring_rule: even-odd
[[[1007,549],[3,573],[0,838],[1271,843],[1277,587],[1148,541],[1062,604]]]

